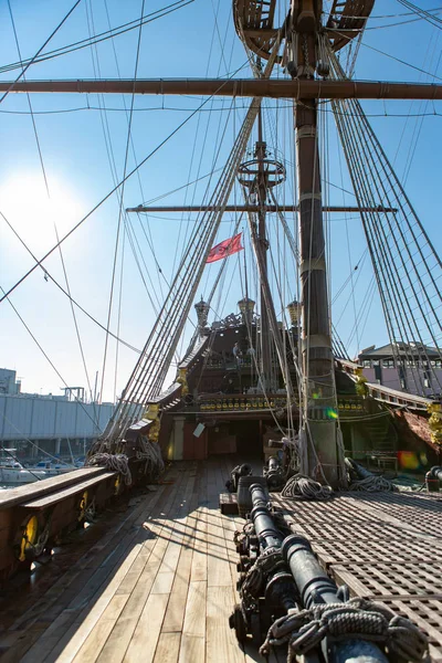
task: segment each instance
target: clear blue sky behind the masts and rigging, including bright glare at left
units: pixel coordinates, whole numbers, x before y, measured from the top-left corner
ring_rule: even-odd
[[[284,4],[285,2],[282,7]],[[72,0],[57,0],[57,2],[40,0],[38,3],[30,0],[11,0],[23,59],[34,55],[71,6]],[[438,7],[435,2],[427,2],[427,0],[420,0],[420,6],[425,9]],[[118,0],[107,0],[107,2],[83,0],[45,51],[85,39],[90,35],[90,30],[92,33],[107,30],[106,7],[112,27],[137,19],[141,11],[141,2],[138,0],[129,0],[125,3]],[[145,13],[161,7],[165,7],[165,3],[159,1],[146,2]],[[284,13],[282,9],[281,11]],[[406,11],[397,0],[378,0],[373,15],[397,17]],[[442,77],[442,66],[436,71],[442,44],[441,31],[425,21],[391,25],[408,19],[410,17],[402,15],[370,20],[370,29],[365,33],[364,44],[358,55],[356,77],[423,82],[433,80],[398,60]],[[19,57],[6,2],[0,6],[0,20],[2,25],[0,62],[1,65],[7,65]],[[119,73],[112,42],[106,41],[98,44],[98,62],[95,60],[95,69],[91,49],[84,49],[46,63],[34,64],[27,72],[27,76],[29,80],[93,78],[96,75],[133,77],[137,39],[138,31],[134,30],[114,40]],[[194,0],[179,11],[143,28],[139,77],[223,76],[227,72],[234,72],[240,67],[243,69],[238,75],[249,76],[245,54],[233,30],[229,0]],[[14,70],[1,76],[3,80],[11,80],[18,73],[18,70]],[[282,72],[278,75],[282,75]],[[127,143],[127,118],[122,97],[118,95],[108,95],[104,102],[96,95],[34,95],[31,96],[31,103],[50,200],[45,191],[27,96],[10,94],[0,105],[0,210],[20,232],[30,249],[41,256],[55,243],[54,222],[59,234],[64,234],[113,188],[110,150],[116,177],[118,179],[122,177]],[[103,103],[107,108],[105,114],[101,114],[97,109]],[[196,97],[136,97],[131,134],[137,161],[144,159],[200,104],[201,99]],[[126,105],[130,105],[128,96]],[[246,102],[243,99],[238,99],[234,104],[230,99],[221,98],[208,103],[204,112],[190,119],[177,136],[147,161],[139,170],[139,180],[134,177],[128,181],[124,192],[124,206],[136,206],[141,201],[155,199],[210,172],[220,137],[223,135],[217,161],[217,166],[222,166],[244,116],[245,105]],[[267,108],[264,113],[266,139],[271,147],[275,147],[273,136],[274,122],[276,122],[277,154],[288,167],[294,159],[291,110],[286,102],[269,101],[265,106]],[[406,169],[409,168],[407,191],[430,238],[440,251],[441,117],[433,115],[407,118],[409,113],[411,115],[432,113],[434,108],[442,113],[440,103],[435,106],[427,102],[367,102],[364,103],[364,107],[370,115],[381,115],[371,117],[370,122],[389,158],[394,161],[400,177],[403,177]],[[55,110],[57,113],[54,113]],[[406,117],[394,117],[396,114]],[[271,119],[271,115],[276,119]],[[418,140],[414,147],[415,137]],[[329,180],[337,187],[349,189],[344,157],[339,158],[332,122],[328,152]],[[131,150],[128,165],[129,169],[135,165]],[[286,201],[293,197],[293,172],[288,177],[282,193],[282,198]],[[215,178],[217,176],[211,181],[211,188]],[[164,202],[180,204],[186,200],[187,203],[197,203],[202,200],[207,181],[202,180],[196,187],[182,189],[166,198]],[[330,188],[329,191],[330,202],[334,204],[352,204],[355,201],[351,196],[343,193],[337,188]],[[117,197],[112,197],[63,244],[63,257],[72,295],[103,324],[106,324],[107,318],[118,207]],[[177,245],[178,254],[182,250],[182,233],[186,231],[186,224],[180,224],[178,214],[175,218],[170,214],[164,214],[162,218],[151,217],[144,221],[144,229],[138,225],[136,217],[131,218],[131,222],[152,281],[150,283],[149,277],[145,275],[149,298],[126,239],[119,335],[129,344],[140,348],[155,320],[151,299],[161,301],[167,290],[165,282],[158,278],[145,232],[151,233],[156,260],[165,276],[170,278]],[[230,236],[232,222],[233,218],[229,217],[227,222],[222,223],[219,232],[220,241]],[[292,218],[290,223],[293,225]],[[358,219],[352,217],[346,219],[345,215],[339,214],[333,218],[330,224],[332,287],[336,293],[348,277],[350,266],[355,266],[362,254],[365,243]],[[192,225],[192,222],[189,225]],[[277,232],[281,230],[277,230],[275,220],[270,220],[270,228],[271,239],[277,239]],[[250,265],[252,259],[246,238],[245,243]],[[122,245],[116,293],[119,287],[120,252]],[[277,252],[274,256],[277,270]],[[280,260],[283,260],[283,255],[280,255]],[[8,290],[32,264],[32,259],[27,255],[23,246],[0,220],[0,285]],[[59,253],[48,260],[46,269],[64,284]],[[208,293],[217,271],[215,265],[207,267],[201,293]],[[288,299],[290,295],[296,292],[296,287],[290,266],[287,274],[285,297]],[[366,293],[370,277],[371,267],[367,261],[355,291],[356,308]],[[242,296],[239,282],[238,261],[231,257],[223,293],[219,299],[215,298],[215,308],[220,315],[227,315],[235,309],[235,303]],[[252,274],[250,287],[253,296]],[[338,332],[345,341],[350,338],[355,322],[352,301],[350,299],[347,307],[345,306],[349,295],[350,288],[347,287],[336,302],[333,312],[335,322],[339,320]],[[69,385],[86,386],[72,313],[65,296],[50,281],[46,282],[43,273],[38,270],[17,288],[11,296],[11,302],[63,379]],[[110,323],[114,332],[117,332],[118,325],[117,305],[116,297]],[[93,383],[95,372],[102,372],[104,333],[81,313],[77,314],[77,320],[90,379]],[[191,326],[187,334],[190,333]],[[18,371],[18,375],[23,378],[23,390],[59,392],[62,386],[60,377],[55,375],[7,302],[0,305],[0,366]],[[356,354],[361,347],[371,344],[382,345],[387,341],[380,304],[376,298],[365,328],[359,326],[359,347],[356,338],[352,338],[349,350],[350,354]],[[120,347],[116,379],[117,393],[124,387],[136,357],[137,355],[131,350]],[[106,369],[105,399],[113,398],[114,376],[115,344],[112,341]]]

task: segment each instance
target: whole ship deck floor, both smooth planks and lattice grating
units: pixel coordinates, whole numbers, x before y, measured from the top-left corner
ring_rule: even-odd
[[[251,663],[229,628],[244,520],[222,515],[235,457],[175,463],[162,483],[71,535],[0,603],[2,663]],[[343,493],[326,503],[272,494],[320,564],[352,596],[380,601],[428,635],[442,662],[440,493]],[[285,661],[273,654],[273,663]]]

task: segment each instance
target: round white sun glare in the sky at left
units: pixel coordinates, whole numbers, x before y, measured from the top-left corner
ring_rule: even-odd
[[[42,176],[30,172],[14,173],[0,185],[0,211],[39,255],[56,243],[55,228],[62,238],[82,218],[81,206],[65,183],[51,178],[48,194]],[[1,218],[0,227],[3,248],[23,251]]]

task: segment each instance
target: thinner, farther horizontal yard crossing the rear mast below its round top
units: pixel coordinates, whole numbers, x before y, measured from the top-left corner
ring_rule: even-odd
[[[139,204],[136,208],[127,208],[126,212],[212,212],[214,211],[213,206],[198,206],[198,204],[185,204],[185,206],[143,206]],[[228,204],[224,209],[225,212],[259,212],[260,208],[254,204]],[[298,212],[299,209],[294,204],[267,204],[265,207],[266,212]],[[323,212],[397,212],[396,208],[385,208],[382,206],[372,208],[358,208],[358,207],[345,207],[345,206],[326,206],[323,207]]]

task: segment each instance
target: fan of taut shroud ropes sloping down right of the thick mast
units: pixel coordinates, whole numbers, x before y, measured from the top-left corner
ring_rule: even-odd
[[[333,53],[330,64],[333,76],[343,78]],[[442,358],[442,263],[359,102],[333,101],[332,107],[339,110],[336,124],[359,206],[381,203],[398,210],[361,212],[361,219],[402,386],[424,396],[430,380],[441,388],[428,344]],[[344,117],[347,108],[354,117]]]

